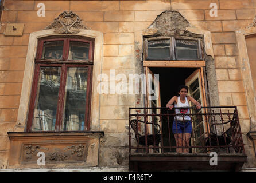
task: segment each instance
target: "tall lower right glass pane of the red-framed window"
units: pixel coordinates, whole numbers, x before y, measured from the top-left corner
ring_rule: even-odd
[[[88,68],[68,68],[63,110],[63,130],[84,130],[87,77]]]

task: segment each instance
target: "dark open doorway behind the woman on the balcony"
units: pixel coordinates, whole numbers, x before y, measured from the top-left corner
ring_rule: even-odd
[[[161,107],[166,107],[167,102],[173,96],[178,96],[178,86],[185,85],[185,79],[189,77],[197,68],[165,68],[165,67],[150,67],[154,74],[159,74]],[[167,113],[167,110],[162,110],[162,113]],[[174,110],[169,111],[174,113]],[[162,118],[162,134],[164,138],[164,146],[176,146],[175,138],[172,133],[173,119],[168,120]],[[170,140],[169,140],[170,132]],[[190,142],[191,144],[191,142]],[[164,149],[164,152],[176,152],[176,149]]]

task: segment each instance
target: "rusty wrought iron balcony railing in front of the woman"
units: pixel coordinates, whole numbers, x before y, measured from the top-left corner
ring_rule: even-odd
[[[236,106],[189,109],[189,114],[175,114],[168,108],[129,108],[129,153],[245,154]],[[177,125],[174,121],[182,118],[179,125],[185,129],[188,116],[192,123],[191,135],[177,136],[172,129],[173,123]],[[189,141],[189,145],[185,141]]]

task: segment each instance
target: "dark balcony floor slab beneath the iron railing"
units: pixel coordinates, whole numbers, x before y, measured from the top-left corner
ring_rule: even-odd
[[[130,171],[239,171],[245,154],[218,154],[218,165],[210,165],[207,153],[132,153]]]

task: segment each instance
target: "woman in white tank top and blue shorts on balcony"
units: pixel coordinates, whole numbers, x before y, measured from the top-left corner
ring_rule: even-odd
[[[189,101],[196,105],[197,109],[201,108],[199,102],[197,102],[193,97],[187,96],[188,94],[188,86],[180,85],[178,87],[178,93],[180,96],[173,96],[169,102],[166,104],[166,108],[172,109],[175,108],[182,108],[182,109],[175,109],[177,115],[174,117],[173,125],[172,125],[172,132],[175,137],[176,146],[189,146],[189,140],[191,138],[192,133],[192,123],[191,117],[185,114],[189,114]],[[174,106],[172,105],[174,102]],[[176,148],[177,153],[188,153],[189,148]]]

